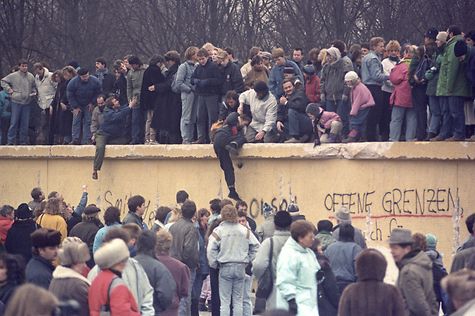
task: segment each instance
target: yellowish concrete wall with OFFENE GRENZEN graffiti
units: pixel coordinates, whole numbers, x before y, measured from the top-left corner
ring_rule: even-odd
[[[172,205],[185,189],[198,207],[227,195],[211,146],[109,146],[99,180],[91,179],[92,146],[0,148],[0,203],[29,201],[31,188],[59,191],[76,204],[81,186],[102,209],[127,199],[147,199],[146,217]],[[466,238],[464,218],[473,212],[475,144],[357,143],[246,145],[236,159],[236,186],[251,215],[261,205],[285,209],[295,200],[307,219],[333,218],[341,205],[353,213],[371,246],[384,246],[394,227],[438,236],[446,263]]]

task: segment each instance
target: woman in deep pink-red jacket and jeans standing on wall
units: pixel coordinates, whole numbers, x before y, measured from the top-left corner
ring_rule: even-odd
[[[409,85],[409,64],[414,55],[415,46],[407,46],[404,58],[391,70],[389,81],[394,86],[390,103],[393,106],[389,140],[398,142],[401,138],[402,122],[406,120],[406,142],[416,140],[417,116],[412,106],[411,86]]]

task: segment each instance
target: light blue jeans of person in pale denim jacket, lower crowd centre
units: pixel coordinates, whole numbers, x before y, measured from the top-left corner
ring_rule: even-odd
[[[230,316],[230,304],[233,303],[233,316],[243,315],[244,283],[246,265],[239,263],[224,264],[219,268],[219,299],[221,316]]]

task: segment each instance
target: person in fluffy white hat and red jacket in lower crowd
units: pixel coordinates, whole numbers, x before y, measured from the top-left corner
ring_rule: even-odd
[[[89,290],[91,315],[110,312],[111,315],[140,315],[132,292],[122,280],[122,272],[129,259],[129,249],[122,239],[104,243],[94,253],[94,261],[101,272]]]

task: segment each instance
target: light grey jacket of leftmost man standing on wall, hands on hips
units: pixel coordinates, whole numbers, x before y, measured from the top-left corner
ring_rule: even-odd
[[[31,94],[37,91],[35,77],[29,72],[22,73],[20,70],[4,77],[0,84],[5,91],[13,90],[10,95],[11,101],[18,104],[30,104]]]

